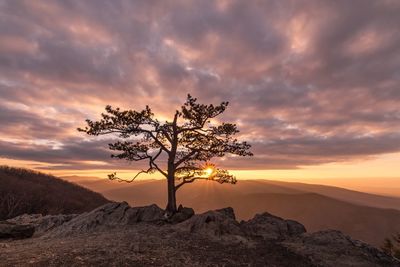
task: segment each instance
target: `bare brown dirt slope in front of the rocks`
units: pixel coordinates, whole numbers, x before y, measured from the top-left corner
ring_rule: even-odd
[[[137,224],[62,238],[0,241],[0,266],[312,265],[273,242],[222,242]]]

